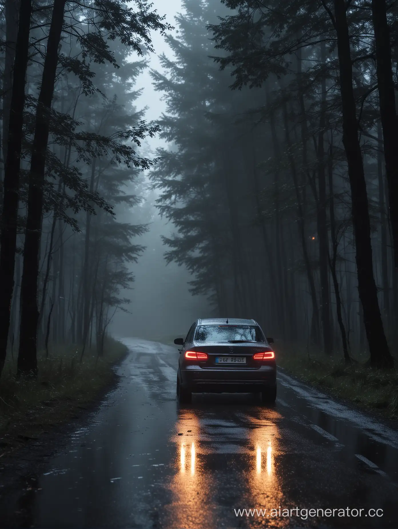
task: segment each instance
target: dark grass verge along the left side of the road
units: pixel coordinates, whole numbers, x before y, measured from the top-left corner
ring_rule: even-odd
[[[16,359],[8,358],[0,379],[0,457],[77,418],[115,380],[112,366],[126,353],[127,347],[110,337],[103,357],[88,349],[82,362],[78,346],[53,346],[48,359],[39,353],[34,380],[16,380]]]

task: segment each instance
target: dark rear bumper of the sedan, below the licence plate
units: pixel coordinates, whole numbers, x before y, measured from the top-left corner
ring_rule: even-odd
[[[249,393],[276,384],[276,367],[259,369],[202,369],[189,366],[181,370],[181,383],[193,393]]]

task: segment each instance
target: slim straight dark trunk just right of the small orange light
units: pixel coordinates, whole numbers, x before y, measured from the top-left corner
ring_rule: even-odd
[[[326,44],[321,43],[321,63],[326,65]],[[319,242],[319,277],[321,285],[321,322],[323,334],[323,350],[327,354],[332,352],[332,334],[330,326],[330,296],[329,296],[329,238],[328,219],[326,214],[326,175],[325,175],[325,125],[326,125],[326,78],[322,76],[321,83],[322,101],[319,118],[319,138],[318,138],[318,242]]]

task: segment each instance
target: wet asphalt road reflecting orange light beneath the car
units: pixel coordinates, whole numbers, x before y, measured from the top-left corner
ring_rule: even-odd
[[[0,527],[21,509],[21,526],[52,529],[398,526],[395,431],[281,372],[274,407],[246,394],[198,394],[180,407],[177,349],[123,341],[119,386],[32,486],[2,503]],[[235,513],[256,508],[265,516]],[[301,510],[328,508],[344,516]]]

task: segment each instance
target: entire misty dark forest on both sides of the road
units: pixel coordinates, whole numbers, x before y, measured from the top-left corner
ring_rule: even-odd
[[[208,315],[393,367],[398,3],[182,6],[171,34],[146,0],[2,2],[0,374],[16,354],[36,375],[52,343],[103,354],[150,229],[120,220],[150,192],[143,171],[174,226],[165,262]],[[154,31],[166,112],[147,123]],[[152,157],[155,134],[169,147]]]

